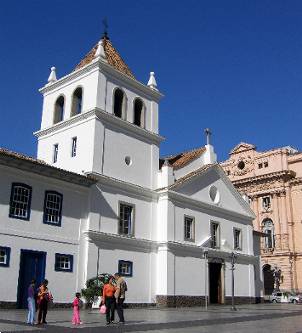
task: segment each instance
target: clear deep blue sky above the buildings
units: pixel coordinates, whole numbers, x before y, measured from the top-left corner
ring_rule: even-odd
[[[302,1],[3,1],[0,146],[36,154],[38,89],[69,73],[102,35],[136,78],[155,71],[161,155],[205,144],[219,160],[240,141],[301,149]]]

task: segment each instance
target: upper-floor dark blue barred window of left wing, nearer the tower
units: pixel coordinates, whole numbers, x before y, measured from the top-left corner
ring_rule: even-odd
[[[44,197],[43,222],[60,226],[62,220],[63,195],[55,191],[46,191]]]

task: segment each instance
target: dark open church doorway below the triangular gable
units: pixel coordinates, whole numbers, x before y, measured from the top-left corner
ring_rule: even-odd
[[[222,304],[222,264],[209,263],[209,301],[210,304]]]

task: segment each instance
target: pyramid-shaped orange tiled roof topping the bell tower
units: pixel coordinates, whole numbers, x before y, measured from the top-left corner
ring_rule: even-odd
[[[82,68],[92,62],[95,56],[95,52],[97,49],[97,44],[86,54],[86,56],[80,61],[80,63],[76,66],[75,70]],[[131,78],[135,78],[132,74],[129,67],[126,65],[122,57],[119,55],[117,50],[113,47],[111,41],[107,38],[103,38],[103,46],[106,55],[106,59],[108,64],[117,69],[118,71],[130,76]]]

